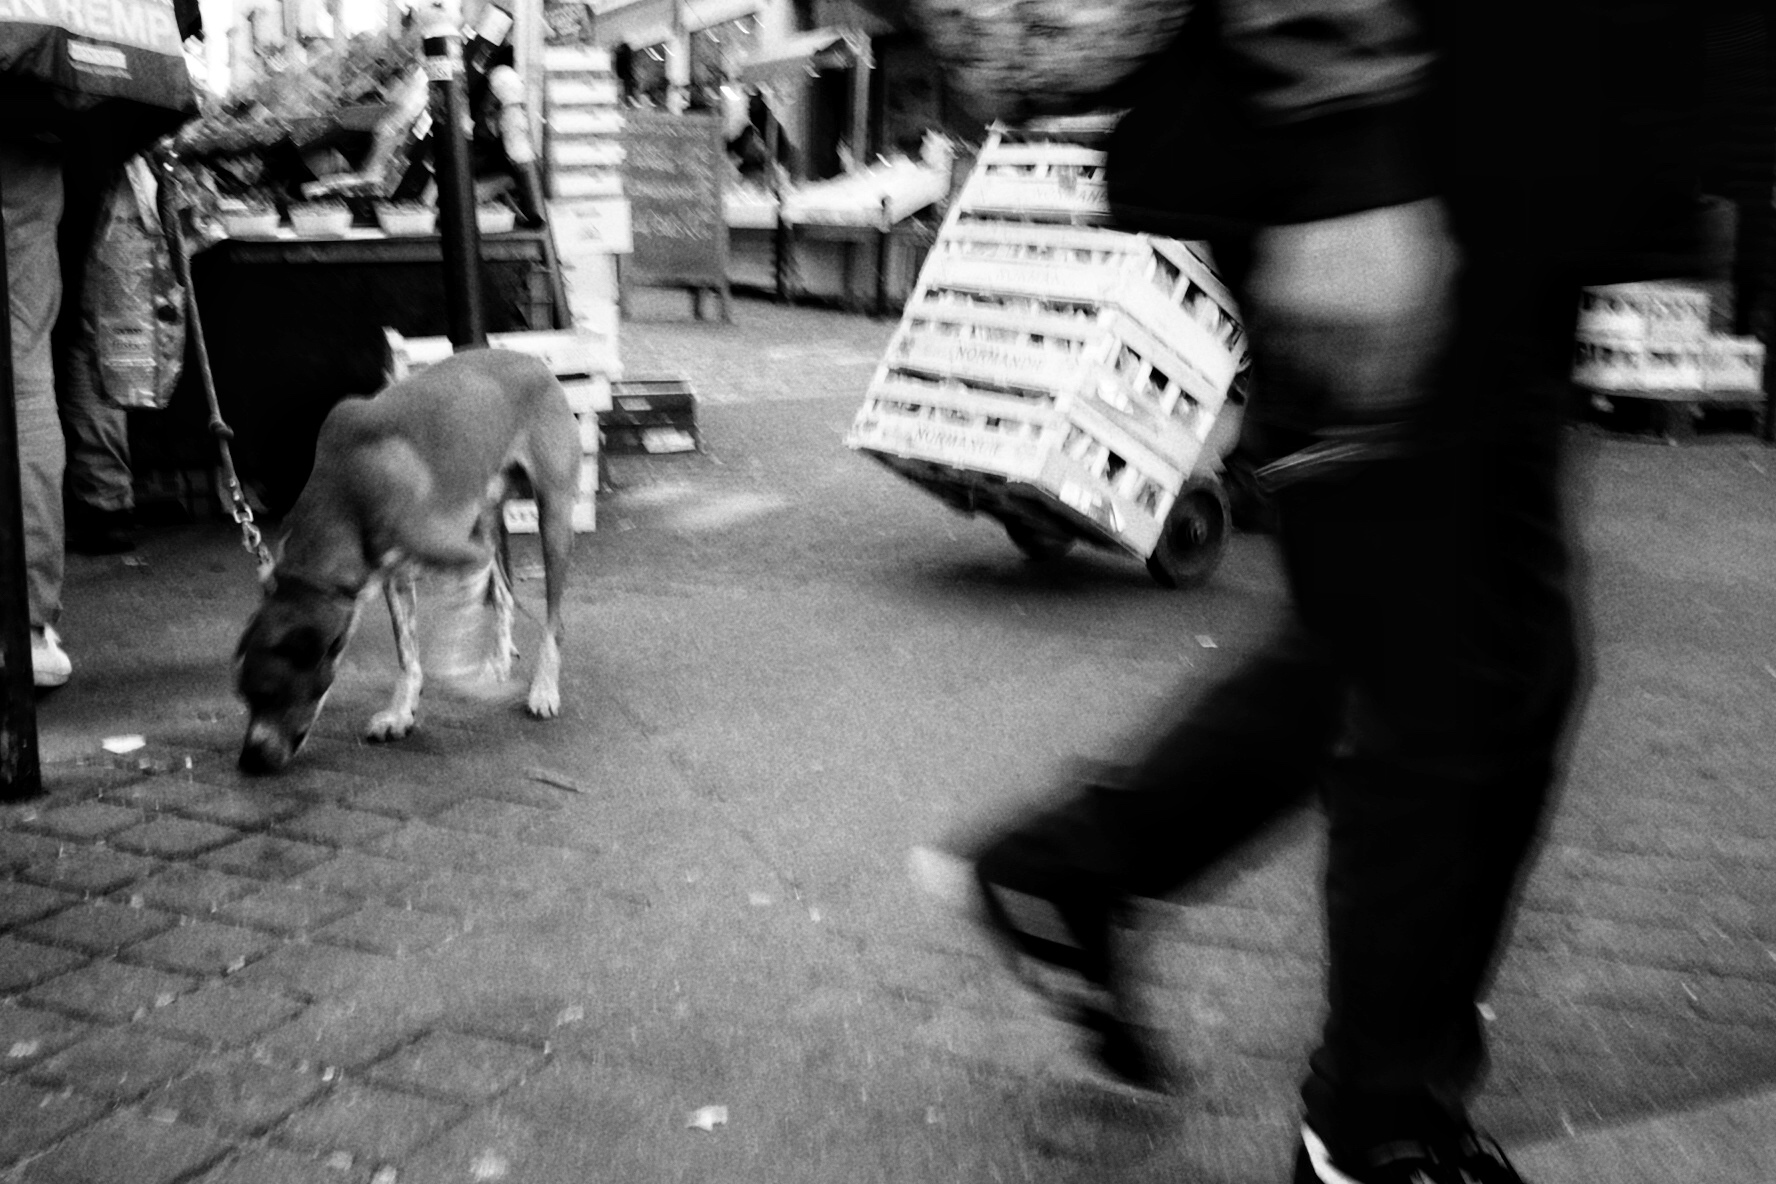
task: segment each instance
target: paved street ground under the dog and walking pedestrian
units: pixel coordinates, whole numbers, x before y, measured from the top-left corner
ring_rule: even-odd
[[[554,724],[428,692],[361,744],[369,616],[309,749],[243,779],[227,531],[76,557],[50,792],[0,806],[0,1180],[1284,1179],[1316,817],[1153,907],[1165,1101],[1094,1081],[904,873],[1256,646],[1273,556],[1192,595],[1023,564],[838,446],[888,330],[638,302],[629,369],[693,378],[709,451],[613,465]],[[1542,1184],[1772,1180],[1776,456],[1574,442],[1595,685],[1479,1113]]]

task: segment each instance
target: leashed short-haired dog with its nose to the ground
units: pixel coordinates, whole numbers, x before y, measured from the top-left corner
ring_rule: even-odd
[[[247,772],[282,769],[320,715],[366,593],[378,584],[401,666],[371,740],[414,728],[423,671],[414,634],[419,572],[490,593],[497,641],[488,671],[511,671],[511,589],[499,568],[501,502],[522,474],[536,497],[547,620],[529,710],[561,710],[561,593],[574,545],[579,431],[549,367],[508,350],[469,350],[371,399],[339,403],[321,424],[314,472],[286,520],[265,600],[234,655],[250,719]]]

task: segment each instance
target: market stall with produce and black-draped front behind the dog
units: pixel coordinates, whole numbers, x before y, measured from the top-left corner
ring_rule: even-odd
[[[572,318],[527,149],[535,87],[513,67],[522,37],[497,4],[471,12],[460,83],[472,115],[462,144],[469,291],[480,289],[487,332],[563,330]],[[274,509],[300,492],[327,412],[384,383],[387,330],[455,335],[462,284],[440,233],[421,41],[408,18],[291,46],[172,144],[195,199],[192,280],[217,398],[243,476]],[[195,385],[188,367],[176,401],[201,403]],[[142,460],[153,467],[153,449]]]

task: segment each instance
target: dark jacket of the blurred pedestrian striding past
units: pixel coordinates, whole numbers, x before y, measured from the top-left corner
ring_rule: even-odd
[[[1694,254],[1696,0],[1197,0],[1110,149],[1131,229],[1224,238],[1444,197],[1590,279]]]

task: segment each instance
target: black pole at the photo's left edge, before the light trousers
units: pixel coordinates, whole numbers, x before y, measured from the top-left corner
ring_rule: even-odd
[[[0,202],[0,305],[9,304],[9,293],[5,204]],[[0,801],[16,802],[41,792],[37,685],[30,673],[30,600],[25,591],[25,490],[12,392],[12,314],[0,307]]]

